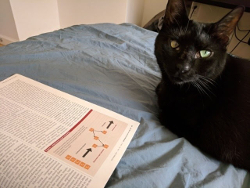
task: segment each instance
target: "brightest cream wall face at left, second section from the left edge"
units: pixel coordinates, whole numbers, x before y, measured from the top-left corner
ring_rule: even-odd
[[[60,28],[57,0],[10,0],[19,40]]]

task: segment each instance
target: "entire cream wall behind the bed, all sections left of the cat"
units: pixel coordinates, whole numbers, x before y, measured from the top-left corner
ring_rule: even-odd
[[[0,0],[0,43],[77,24],[134,23],[143,26],[167,0]]]

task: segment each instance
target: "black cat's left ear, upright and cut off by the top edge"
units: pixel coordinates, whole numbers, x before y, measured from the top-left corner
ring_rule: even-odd
[[[188,22],[188,16],[184,0],[168,0],[166,7],[164,24],[186,24]]]

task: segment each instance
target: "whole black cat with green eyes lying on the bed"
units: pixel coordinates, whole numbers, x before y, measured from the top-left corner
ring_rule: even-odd
[[[156,88],[160,121],[203,152],[250,171],[250,61],[227,54],[244,13],[197,23],[183,0],[169,0],[155,42],[162,79]]]

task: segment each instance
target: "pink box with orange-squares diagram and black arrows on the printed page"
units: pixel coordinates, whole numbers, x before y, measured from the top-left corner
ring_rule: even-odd
[[[94,176],[126,128],[126,123],[91,110],[45,151]]]

